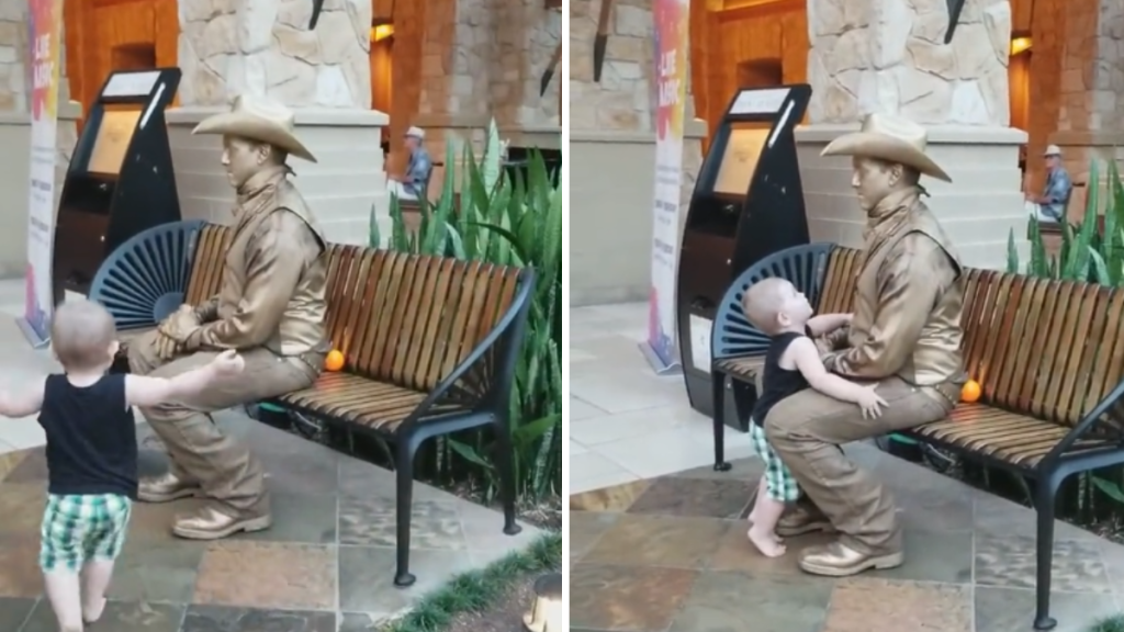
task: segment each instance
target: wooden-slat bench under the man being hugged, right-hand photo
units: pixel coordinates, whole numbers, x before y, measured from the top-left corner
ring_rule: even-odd
[[[850,310],[859,258],[832,250],[818,296],[825,313]],[[1124,289],[964,273],[964,364],[982,395],[904,434],[1036,481],[1034,628],[1050,630],[1058,488],[1073,473],[1124,463]]]

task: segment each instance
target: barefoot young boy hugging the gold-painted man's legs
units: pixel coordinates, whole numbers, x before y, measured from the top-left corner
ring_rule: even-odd
[[[828,373],[812,341],[847,325],[850,314],[812,316],[812,305],[792,283],[783,279],[765,279],[754,283],[743,298],[742,309],[754,327],[771,336],[765,353],[761,394],[753,406],[750,435],[762,460],[758,500],[750,513],[749,538],[764,556],[785,554],[785,545],[774,530],[787,503],[796,502],[799,488],[792,473],[765,441],[764,419],[774,404],[809,386],[843,401],[858,404],[864,415],[881,414],[886,406],[873,386],[863,386]]]

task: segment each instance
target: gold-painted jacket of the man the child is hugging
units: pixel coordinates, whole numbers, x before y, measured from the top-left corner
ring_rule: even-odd
[[[891,195],[870,214],[846,347],[827,369],[856,379],[898,376],[918,387],[964,382],[960,260],[919,191]]]

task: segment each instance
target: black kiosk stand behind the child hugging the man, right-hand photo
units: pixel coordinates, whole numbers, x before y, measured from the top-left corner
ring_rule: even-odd
[[[679,259],[676,315],[691,407],[710,416],[710,331],[729,283],[765,256],[808,243],[792,129],[812,97],[807,84],[734,94],[695,184]],[[732,389],[724,388],[726,397]],[[733,401],[723,422],[745,431]]]

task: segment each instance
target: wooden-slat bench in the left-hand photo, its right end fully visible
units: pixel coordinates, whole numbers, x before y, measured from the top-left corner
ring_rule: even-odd
[[[232,231],[206,225],[196,235],[182,292],[192,305],[218,292]],[[395,584],[410,586],[414,457],[425,440],[491,426],[499,445],[504,533],[520,531],[508,410],[534,276],[528,269],[354,245],[330,244],[324,256],[325,325],[333,347],[344,354],[344,369],[271,403],[395,444]],[[91,292],[91,298],[100,297]]]

